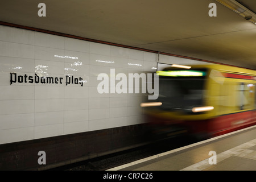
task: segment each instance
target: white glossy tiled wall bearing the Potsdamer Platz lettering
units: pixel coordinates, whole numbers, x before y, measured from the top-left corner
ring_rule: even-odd
[[[199,61],[160,55],[160,63]],[[156,69],[158,54],[0,26],[0,144],[143,122],[140,94],[100,94],[100,73]],[[63,77],[63,84],[13,83],[10,73]],[[83,86],[65,85],[65,75]]]

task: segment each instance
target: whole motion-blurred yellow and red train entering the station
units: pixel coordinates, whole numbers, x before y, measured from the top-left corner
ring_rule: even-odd
[[[256,71],[212,64],[156,73],[159,97],[141,105],[156,135],[207,139],[256,124]]]

